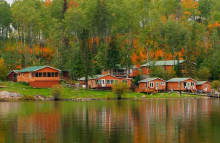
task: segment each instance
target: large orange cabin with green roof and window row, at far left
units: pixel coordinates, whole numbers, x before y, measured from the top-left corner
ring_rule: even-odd
[[[35,88],[51,88],[59,85],[60,70],[50,66],[33,66],[18,71],[18,82],[28,82]]]

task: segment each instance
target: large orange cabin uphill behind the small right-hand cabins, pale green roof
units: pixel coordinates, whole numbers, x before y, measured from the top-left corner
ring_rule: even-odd
[[[177,60],[168,60],[168,61],[150,61],[146,64],[141,65],[141,69],[143,74],[145,75],[150,75],[150,73],[152,72],[151,69],[149,68],[150,66],[156,66],[156,67],[161,67],[161,69],[167,70],[169,71],[172,67],[174,68],[174,66],[177,64]],[[181,65],[181,70],[182,73],[184,74],[185,71],[185,66],[186,66],[186,60],[179,60],[179,63]],[[193,65],[195,65],[195,63],[192,63]]]

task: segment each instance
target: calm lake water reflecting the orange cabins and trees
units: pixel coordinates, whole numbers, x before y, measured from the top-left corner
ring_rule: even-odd
[[[0,103],[0,143],[220,141],[220,100]]]

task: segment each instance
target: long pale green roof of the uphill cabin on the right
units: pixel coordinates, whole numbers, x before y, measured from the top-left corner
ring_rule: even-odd
[[[141,65],[142,67],[146,67],[146,66],[152,66],[152,65],[155,65],[155,66],[173,66],[175,64],[177,64],[177,60],[170,60],[170,61],[151,61],[151,62],[148,62],[146,64],[143,64]],[[184,63],[185,60],[179,60],[179,63],[182,64]]]

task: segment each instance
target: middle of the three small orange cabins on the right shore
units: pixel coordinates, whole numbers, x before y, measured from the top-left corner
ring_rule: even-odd
[[[172,78],[167,81],[167,90],[197,92],[196,80],[192,78]]]

